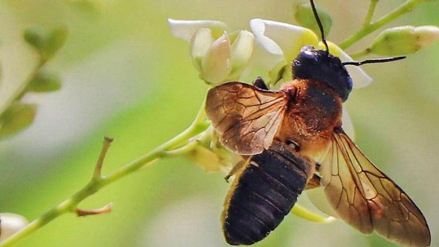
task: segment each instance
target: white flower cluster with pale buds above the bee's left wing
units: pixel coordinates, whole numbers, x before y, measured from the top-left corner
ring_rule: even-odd
[[[225,23],[214,20],[168,22],[175,37],[190,42],[192,61],[206,82],[237,80],[247,71],[254,44],[251,32],[242,30],[229,35]]]

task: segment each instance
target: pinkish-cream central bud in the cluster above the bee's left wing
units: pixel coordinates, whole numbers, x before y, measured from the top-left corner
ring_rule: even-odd
[[[201,77],[209,83],[218,84],[227,78],[231,71],[230,40],[225,32],[209,47],[201,68]]]

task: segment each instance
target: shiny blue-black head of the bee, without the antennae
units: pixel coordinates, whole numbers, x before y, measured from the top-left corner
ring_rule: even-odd
[[[294,79],[313,79],[330,86],[343,101],[352,90],[352,79],[340,59],[311,45],[303,46],[293,61]]]

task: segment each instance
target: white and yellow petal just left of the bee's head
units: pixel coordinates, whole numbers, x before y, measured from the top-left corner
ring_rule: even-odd
[[[268,52],[274,55],[282,53],[287,62],[294,59],[302,46],[318,43],[317,36],[310,29],[287,23],[252,19],[250,29]]]

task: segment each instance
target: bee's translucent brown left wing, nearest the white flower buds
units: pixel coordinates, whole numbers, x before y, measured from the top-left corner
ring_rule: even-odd
[[[242,155],[254,155],[270,146],[287,102],[284,92],[229,82],[209,90],[206,113],[221,134],[222,145]]]

